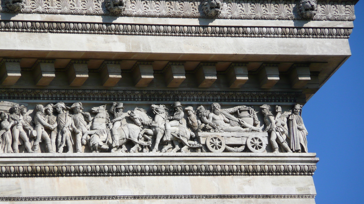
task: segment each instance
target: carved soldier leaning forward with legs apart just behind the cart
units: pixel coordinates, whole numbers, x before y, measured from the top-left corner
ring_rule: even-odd
[[[270,142],[272,143],[273,153],[278,152],[278,144],[281,144],[287,152],[292,152],[288,147],[286,140],[282,137],[282,132],[280,130],[280,122],[277,122],[272,113],[270,113],[270,106],[262,105],[262,114],[264,115],[264,122],[267,125],[264,132],[270,132]],[[277,126],[278,125],[278,126]]]

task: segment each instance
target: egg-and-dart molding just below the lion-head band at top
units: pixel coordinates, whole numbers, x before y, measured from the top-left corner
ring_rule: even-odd
[[[76,33],[137,36],[349,38],[352,28],[191,26],[51,21],[0,21],[0,32]]]

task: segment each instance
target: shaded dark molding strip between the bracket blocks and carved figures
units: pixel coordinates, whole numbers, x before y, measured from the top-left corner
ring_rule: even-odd
[[[301,91],[0,89],[2,100],[296,103]]]

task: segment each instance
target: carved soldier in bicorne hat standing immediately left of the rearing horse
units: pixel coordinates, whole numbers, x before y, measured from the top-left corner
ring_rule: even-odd
[[[81,153],[82,152],[82,144],[81,144],[81,138],[84,134],[87,134],[87,123],[84,120],[83,116],[86,116],[86,121],[91,122],[92,118],[90,113],[82,112],[83,110],[82,103],[77,102],[72,104],[71,109],[73,109],[73,113],[71,115],[71,118],[73,120],[72,122],[72,129],[76,133],[76,152]]]

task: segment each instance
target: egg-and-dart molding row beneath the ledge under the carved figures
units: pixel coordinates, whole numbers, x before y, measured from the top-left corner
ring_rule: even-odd
[[[316,165],[1,166],[0,177],[62,176],[306,176]]]

